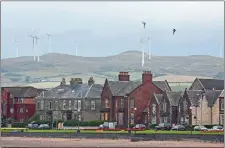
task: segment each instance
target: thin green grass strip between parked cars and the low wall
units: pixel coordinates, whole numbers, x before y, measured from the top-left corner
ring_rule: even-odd
[[[22,128],[21,128],[22,129]],[[18,130],[21,130],[18,128]],[[15,129],[1,129],[1,132],[12,132]],[[103,131],[103,130],[80,130],[81,133],[128,133],[128,131]],[[44,133],[74,133],[76,130],[27,130],[25,132],[44,132]],[[132,131],[136,134],[224,134],[224,132],[200,132],[200,131],[155,131],[155,130],[145,130],[145,131]]]

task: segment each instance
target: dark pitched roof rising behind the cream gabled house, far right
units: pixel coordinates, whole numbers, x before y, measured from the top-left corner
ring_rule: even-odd
[[[224,80],[219,79],[200,79],[198,78],[199,82],[202,86],[207,90],[212,90],[215,88],[216,90],[223,90],[224,89]]]

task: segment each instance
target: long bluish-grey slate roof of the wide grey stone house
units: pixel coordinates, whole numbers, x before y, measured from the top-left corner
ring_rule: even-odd
[[[100,84],[59,85],[40,96],[44,98],[100,98],[103,86]]]

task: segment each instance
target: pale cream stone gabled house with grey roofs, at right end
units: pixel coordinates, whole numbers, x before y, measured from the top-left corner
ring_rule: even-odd
[[[186,89],[178,104],[179,123],[189,125],[220,124],[221,100],[219,96],[221,93],[221,90]]]

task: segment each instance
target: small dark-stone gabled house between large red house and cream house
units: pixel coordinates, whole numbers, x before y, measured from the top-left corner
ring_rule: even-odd
[[[178,123],[178,101],[181,92],[165,91],[162,94],[154,93],[154,97],[150,100],[150,123]]]

